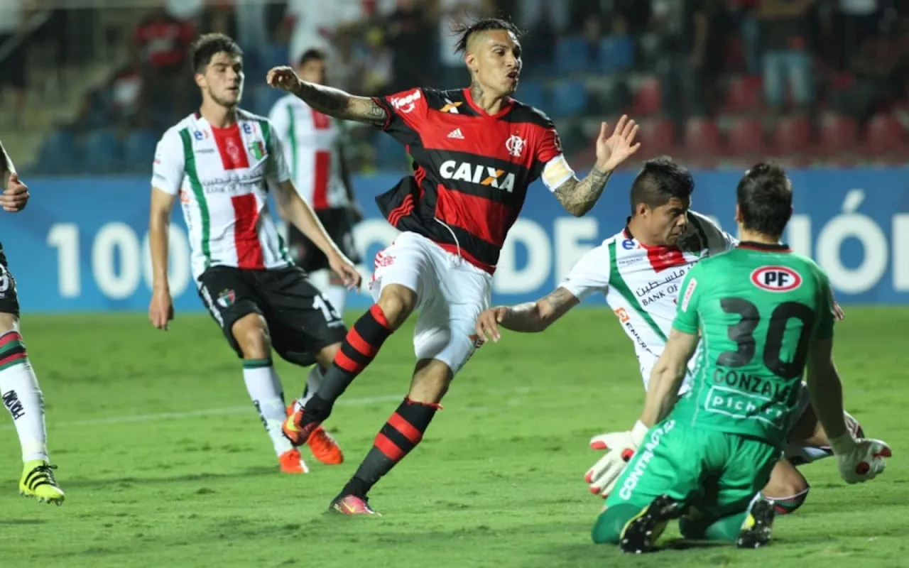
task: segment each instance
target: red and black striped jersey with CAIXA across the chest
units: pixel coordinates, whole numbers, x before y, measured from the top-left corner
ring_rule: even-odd
[[[543,175],[553,190],[574,175],[552,121],[514,99],[496,115],[469,89],[417,88],[373,100],[388,115],[383,130],[414,158],[414,175],[375,199],[385,218],[490,274],[528,185]]]

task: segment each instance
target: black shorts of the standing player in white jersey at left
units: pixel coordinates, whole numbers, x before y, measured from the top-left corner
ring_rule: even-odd
[[[298,266],[241,270],[212,266],[199,276],[199,296],[221,325],[227,342],[243,357],[232,328],[246,314],[260,314],[272,346],[285,361],[303,366],[315,354],[344,340],[347,327]]]

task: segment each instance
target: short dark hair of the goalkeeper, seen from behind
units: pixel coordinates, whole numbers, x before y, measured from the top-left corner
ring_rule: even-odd
[[[779,164],[761,162],[744,173],[735,192],[749,231],[780,237],[793,214],[793,186]]]

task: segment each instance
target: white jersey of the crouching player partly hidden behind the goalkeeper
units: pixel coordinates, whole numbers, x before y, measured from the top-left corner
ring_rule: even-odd
[[[606,304],[634,343],[646,386],[672,328],[684,275],[698,261],[735,244],[732,235],[691,211],[677,246],[641,244],[625,227],[584,254],[559,286],[582,301],[594,292],[605,294]],[[692,357],[681,392],[691,385],[695,361]]]

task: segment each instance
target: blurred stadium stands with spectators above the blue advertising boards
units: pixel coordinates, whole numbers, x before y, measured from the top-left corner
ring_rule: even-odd
[[[789,165],[909,158],[905,0],[3,0],[0,127],[33,128],[26,108],[54,105],[29,100],[54,69],[48,59],[78,65],[101,50],[104,72],[81,82],[72,112],[41,133],[32,168],[145,173],[159,135],[197,105],[186,61],[196,35],[240,42],[243,106],[267,115],[281,94],[265,85],[266,70],[313,46],[331,55],[331,84],[354,94],[466,86],[451,23],[480,15],[509,15],[527,31],[515,96],[554,119],[578,166],[593,159],[599,121],[623,112],[642,124],[641,159],[740,167],[768,155]],[[78,33],[102,20],[101,41]],[[357,170],[406,167],[389,136],[349,131]]]

